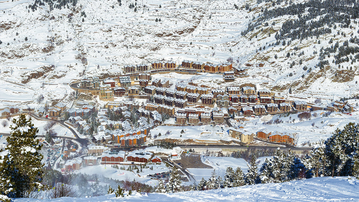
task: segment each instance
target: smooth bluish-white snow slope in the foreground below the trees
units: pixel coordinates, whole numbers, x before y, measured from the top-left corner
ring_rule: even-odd
[[[346,177],[323,177],[288,183],[259,184],[238,188],[190,191],[173,194],[149,193],[116,198],[115,194],[93,198],[57,198],[54,202],[111,202],[111,201],[359,201],[359,180]],[[15,199],[15,202],[40,202],[50,200]]]

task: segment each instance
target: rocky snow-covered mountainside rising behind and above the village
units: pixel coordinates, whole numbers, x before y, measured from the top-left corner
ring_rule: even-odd
[[[251,81],[282,92],[283,96],[289,88],[298,97],[330,99],[357,94],[357,52],[344,55],[340,64],[332,63],[339,48],[321,57],[329,63],[322,69],[315,65],[321,61],[322,47],[336,42],[342,46],[346,40],[348,46],[358,46],[350,40],[359,36],[358,16],[347,9],[350,24],[344,18],[329,19],[328,24],[318,27],[330,29],[331,33],[292,37],[290,41],[288,35],[292,34],[285,35],[283,31],[291,27],[288,23],[299,16],[315,22],[327,14],[314,12],[310,6],[299,14],[283,12],[279,16],[270,10],[303,2],[318,7],[313,0],[278,0],[277,4],[261,0],[1,1],[0,85],[4,93],[0,105],[32,102],[40,93],[48,100],[69,99],[72,90],[62,83],[84,75],[118,75],[125,64],[149,64],[162,59],[221,63],[231,57],[235,66],[265,62],[262,68],[251,68]],[[346,3],[358,8],[357,0]],[[266,9],[271,15],[265,18]],[[306,15],[310,18],[303,18]],[[333,43],[329,43],[331,38]],[[278,45],[271,45],[277,41]],[[304,66],[307,70],[303,70]]]

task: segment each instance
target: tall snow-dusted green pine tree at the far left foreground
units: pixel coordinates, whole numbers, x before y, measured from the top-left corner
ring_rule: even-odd
[[[13,189],[8,196],[22,198],[26,193],[42,188],[40,183],[43,175],[43,156],[39,153],[42,145],[35,139],[38,129],[32,124],[31,118],[26,119],[24,114],[18,119],[13,119],[10,129],[12,131],[6,138],[8,145],[5,150],[16,158],[9,158],[9,164],[5,165],[4,169],[0,167],[0,170],[4,170],[7,172],[5,174],[10,176]]]

